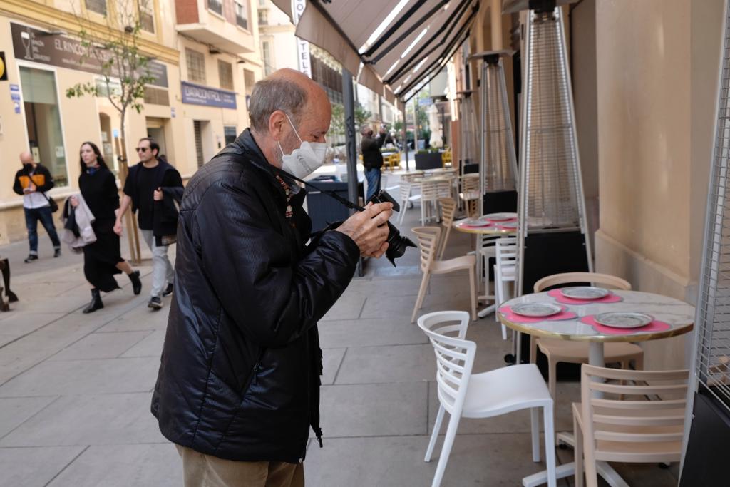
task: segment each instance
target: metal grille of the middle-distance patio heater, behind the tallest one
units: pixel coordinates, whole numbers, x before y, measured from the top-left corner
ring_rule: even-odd
[[[502,60],[483,63],[482,99],[482,174],[487,191],[514,190],[517,184],[517,159],[512,137],[512,121],[507,104],[507,88],[504,83]]]

